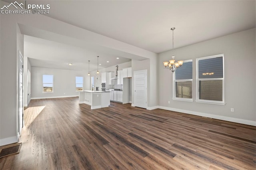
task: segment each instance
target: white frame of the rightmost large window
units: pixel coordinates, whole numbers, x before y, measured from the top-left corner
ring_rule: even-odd
[[[203,60],[203,59],[210,59],[210,58],[216,58],[216,57],[222,57],[222,64],[223,64],[223,78],[212,78],[212,79],[199,79],[198,78],[198,61]],[[204,80],[222,80],[222,101],[213,101],[213,100],[203,100],[199,99],[199,81],[204,81]],[[196,102],[197,103],[208,103],[208,104],[214,104],[214,105],[225,105],[226,103],[224,102],[224,54],[218,54],[218,55],[212,55],[208,57],[201,57],[196,59]]]

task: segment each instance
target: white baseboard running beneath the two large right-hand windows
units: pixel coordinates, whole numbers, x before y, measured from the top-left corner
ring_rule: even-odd
[[[237,119],[237,118],[233,118],[233,117],[226,117],[226,116],[220,116],[220,115],[212,115],[212,114],[208,114],[208,113],[201,113],[201,112],[195,112],[195,111],[187,111],[187,110],[175,109],[175,108],[164,107],[164,106],[159,106],[158,108],[168,110],[168,111],[187,113],[187,114],[190,114],[190,115],[209,117],[209,118],[212,118],[212,119],[219,119],[219,120],[222,120],[222,121],[229,121],[229,122],[241,123],[241,124],[245,124],[245,125],[256,126],[256,121],[249,121],[249,120],[245,120],[245,119]]]

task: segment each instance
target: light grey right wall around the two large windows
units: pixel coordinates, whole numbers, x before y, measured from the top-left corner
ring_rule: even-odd
[[[158,91],[162,109],[256,125],[255,28],[174,50],[177,60],[193,59],[193,100],[196,99],[196,58],[224,54],[226,105],[172,100],[172,72],[162,69],[171,51],[159,54]],[[181,68],[182,69],[182,68]],[[170,104],[168,104],[170,101]],[[230,112],[234,108],[234,112]]]

